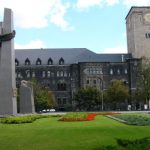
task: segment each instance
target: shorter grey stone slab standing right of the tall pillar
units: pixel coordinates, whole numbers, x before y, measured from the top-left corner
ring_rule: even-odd
[[[20,113],[35,113],[32,83],[25,80],[20,87]]]

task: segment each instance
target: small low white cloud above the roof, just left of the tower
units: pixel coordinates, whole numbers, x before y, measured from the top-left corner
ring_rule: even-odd
[[[106,48],[102,51],[102,53],[127,53],[127,48],[124,46],[117,46],[113,48]]]

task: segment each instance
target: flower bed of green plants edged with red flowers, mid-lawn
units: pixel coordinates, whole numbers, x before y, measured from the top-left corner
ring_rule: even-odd
[[[59,119],[59,121],[91,121],[94,120],[95,116],[97,114],[88,114],[88,113],[69,113],[62,118]]]

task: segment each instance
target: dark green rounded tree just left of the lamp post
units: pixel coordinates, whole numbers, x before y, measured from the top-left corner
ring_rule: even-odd
[[[80,88],[75,92],[74,100],[79,110],[93,110],[100,104],[101,92],[93,87]]]

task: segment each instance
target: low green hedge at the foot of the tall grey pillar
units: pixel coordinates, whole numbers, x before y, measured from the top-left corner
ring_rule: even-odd
[[[17,117],[6,117],[1,118],[0,123],[5,124],[21,124],[21,123],[32,123],[36,119],[46,118],[46,115],[28,115],[28,116],[17,116]]]

